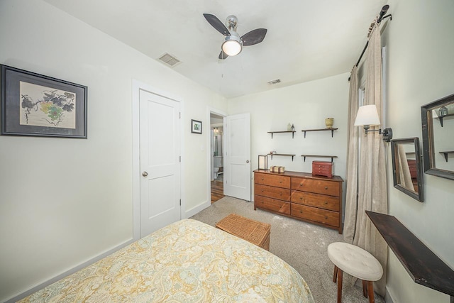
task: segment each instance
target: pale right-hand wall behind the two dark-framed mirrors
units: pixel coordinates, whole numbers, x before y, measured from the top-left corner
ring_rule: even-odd
[[[421,106],[454,93],[454,2],[388,4],[392,21],[383,36],[388,58],[387,124],[394,138],[421,140]],[[454,181],[424,174],[425,201],[420,203],[394,189],[390,161],[387,172],[389,214],[454,268]],[[414,283],[390,250],[387,290],[395,303],[449,302],[448,295]]]

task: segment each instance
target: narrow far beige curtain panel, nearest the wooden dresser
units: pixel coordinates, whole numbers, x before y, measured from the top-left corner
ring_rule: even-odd
[[[345,220],[343,238],[353,243],[355,236],[356,213],[358,211],[358,126],[355,126],[358,113],[358,67],[355,65],[350,74],[350,96],[348,97],[348,148],[347,169],[345,172]]]

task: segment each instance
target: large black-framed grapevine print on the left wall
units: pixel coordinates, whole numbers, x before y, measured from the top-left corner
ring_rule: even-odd
[[[87,87],[0,67],[1,135],[87,138]]]

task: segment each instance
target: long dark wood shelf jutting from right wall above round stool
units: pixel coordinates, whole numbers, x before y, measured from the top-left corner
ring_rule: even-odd
[[[454,270],[416,238],[394,216],[366,211],[384,241],[414,282],[450,295],[454,303]]]

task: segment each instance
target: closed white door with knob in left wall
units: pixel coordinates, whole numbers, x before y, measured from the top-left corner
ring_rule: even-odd
[[[140,237],[180,219],[179,102],[140,90]]]

